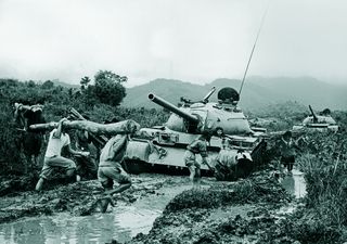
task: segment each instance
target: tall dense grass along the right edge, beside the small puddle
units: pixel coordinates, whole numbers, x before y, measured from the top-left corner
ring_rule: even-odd
[[[307,206],[293,233],[309,243],[338,243],[347,229],[347,133],[345,129],[312,133],[307,140],[298,158],[307,182]]]

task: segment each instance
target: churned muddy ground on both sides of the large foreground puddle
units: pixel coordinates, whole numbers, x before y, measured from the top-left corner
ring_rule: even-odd
[[[100,213],[98,198],[103,190],[97,180],[77,183],[55,180],[43,192],[35,192],[35,178],[2,178],[0,223],[23,217],[68,213],[86,216]],[[119,204],[133,205],[142,197],[158,201],[160,194],[172,200],[149,234],[138,234],[128,244],[179,243],[317,243],[314,228],[298,221],[303,200],[290,195],[267,169],[236,182],[204,178],[202,189],[188,187],[177,195],[175,187],[189,185],[188,177],[163,175],[132,176],[133,185],[115,196]],[[164,191],[163,191],[164,190]],[[117,207],[117,206],[115,206]],[[110,207],[108,213],[113,210]],[[314,221],[313,219],[311,221]],[[334,234],[332,232],[332,234]],[[113,243],[120,243],[114,240]]]

